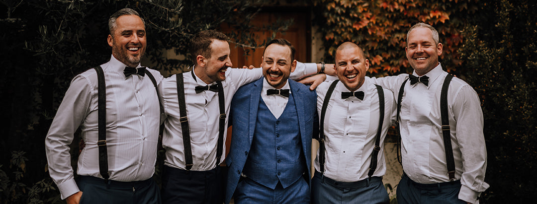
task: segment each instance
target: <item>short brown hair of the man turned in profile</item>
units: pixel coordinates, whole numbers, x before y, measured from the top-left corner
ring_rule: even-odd
[[[213,40],[228,41],[229,37],[226,34],[215,30],[200,31],[190,39],[190,54],[192,61],[196,63],[198,55],[210,58],[212,54],[211,43]]]

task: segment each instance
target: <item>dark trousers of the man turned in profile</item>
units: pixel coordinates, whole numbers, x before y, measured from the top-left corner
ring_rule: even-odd
[[[187,171],[164,166],[162,176],[163,203],[219,203],[224,200],[225,168],[208,171]]]

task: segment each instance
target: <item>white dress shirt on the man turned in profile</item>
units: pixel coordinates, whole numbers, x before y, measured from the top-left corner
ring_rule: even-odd
[[[195,67],[194,67],[195,69]],[[191,71],[192,72],[192,71]],[[219,134],[219,100],[218,94],[209,90],[196,94],[195,86],[206,86],[205,82],[192,78],[191,72],[183,73],[185,88],[186,115],[190,126],[190,143],[192,148],[193,171],[207,171],[216,167],[216,143]],[[305,75],[317,72],[315,63],[297,63],[291,78],[299,79]],[[195,74],[194,74],[195,75]],[[245,84],[263,77],[262,69],[227,69],[226,80],[222,81],[224,90],[226,115],[229,116],[231,99],[237,89]],[[159,94],[162,96],[166,120],[164,121],[164,135],[162,146],[166,149],[164,164],[169,167],[185,169],[185,155],[183,146],[183,132],[179,122],[179,102],[177,99],[176,75],[163,79],[159,85]],[[210,85],[214,85],[213,82]],[[228,118],[226,118],[226,127]],[[227,129],[224,130],[224,143]],[[226,147],[223,147],[223,153]],[[222,155],[221,162],[224,157]]]

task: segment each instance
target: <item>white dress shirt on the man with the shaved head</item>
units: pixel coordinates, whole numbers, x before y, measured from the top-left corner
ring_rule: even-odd
[[[317,91],[317,112],[321,109],[326,92],[332,81],[323,82]],[[380,152],[377,167],[373,176],[386,173],[383,141],[386,133],[396,117],[396,102],[393,93],[384,90],[384,120],[380,138]],[[355,92],[364,92],[364,100],[351,96],[341,98],[342,92],[350,92],[339,81],[330,97],[324,117],[325,164],[324,176],[339,182],[358,182],[367,178],[371,154],[375,147],[376,133],[379,128],[379,95],[371,79],[366,78],[364,84]],[[315,169],[320,171],[319,151],[315,159]]]

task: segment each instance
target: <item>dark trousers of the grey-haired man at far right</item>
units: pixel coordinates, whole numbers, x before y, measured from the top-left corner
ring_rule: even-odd
[[[397,186],[397,203],[466,204],[465,201],[459,200],[460,190],[460,180],[436,184],[420,184],[414,182],[403,173]]]

